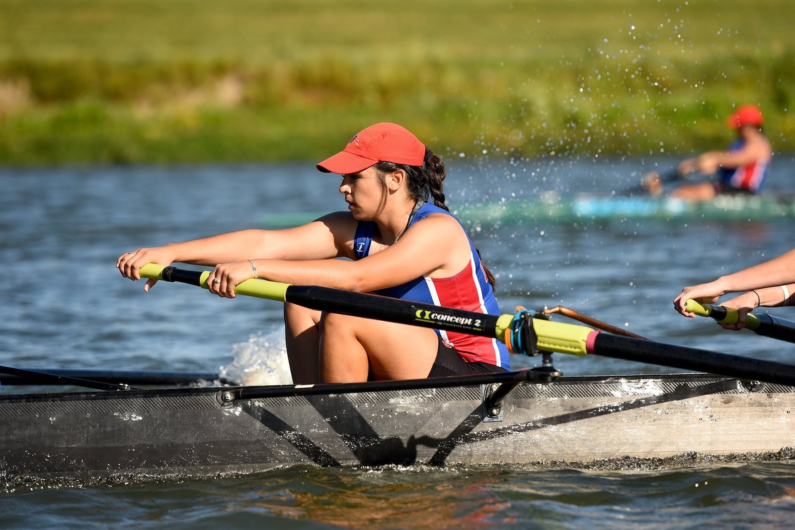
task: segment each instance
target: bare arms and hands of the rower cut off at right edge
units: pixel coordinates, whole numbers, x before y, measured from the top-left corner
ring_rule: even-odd
[[[688,299],[712,304],[723,294],[742,291],[747,293],[721,303],[726,307],[737,309],[739,313],[736,324],[719,323],[723,328],[742,329],[745,326],[746,315],[759,306],[793,305],[795,249],[753,267],[721,276],[712,282],[685,287],[679,296],[674,298],[673,307],[685,317],[696,317],[696,313],[684,309],[684,302]]]

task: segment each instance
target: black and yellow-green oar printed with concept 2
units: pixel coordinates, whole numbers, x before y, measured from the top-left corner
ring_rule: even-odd
[[[210,271],[185,271],[153,263],[142,267],[140,273],[145,278],[184,282],[205,289],[207,289],[207,277],[210,275]],[[536,338],[535,346],[541,351],[556,351],[571,355],[602,355],[638,363],[660,364],[733,378],[756,379],[795,386],[793,365],[616,336],[581,325],[545,321],[540,318],[522,318],[527,314],[522,312],[517,315],[487,315],[375,294],[320,286],[294,286],[289,283],[253,278],[238,284],[235,293],[288,301],[309,309],[332,313],[495,337],[502,342],[511,343],[514,351],[520,353],[534,352],[533,344],[527,344],[526,341],[526,337],[533,332]],[[516,332],[517,326],[514,325],[516,322],[524,329]],[[522,341],[524,347],[517,348]]]

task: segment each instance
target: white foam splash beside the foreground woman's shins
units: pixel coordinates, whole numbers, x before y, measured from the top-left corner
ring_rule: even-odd
[[[284,328],[263,335],[258,332],[249,340],[232,347],[232,363],[220,367],[220,375],[246,386],[289,385],[293,383],[287,360]]]

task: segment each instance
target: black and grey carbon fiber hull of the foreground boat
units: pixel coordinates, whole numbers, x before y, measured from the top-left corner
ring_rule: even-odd
[[[360,383],[334,391],[323,385],[5,395],[0,478],[203,476],[294,464],[566,465],[795,446],[790,386],[704,374],[522,378]],[[495,400],[495,391],[507,395]]]

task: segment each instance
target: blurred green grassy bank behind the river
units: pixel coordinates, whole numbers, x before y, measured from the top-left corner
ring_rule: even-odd
[[[317,159],[396,121],[434,151],[719,148],[795,132],[789,0],[0,0],[0,163]]]

